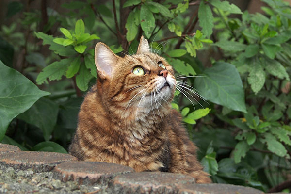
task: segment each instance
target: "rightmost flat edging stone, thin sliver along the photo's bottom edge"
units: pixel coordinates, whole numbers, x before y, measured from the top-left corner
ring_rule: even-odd
[[[231,184],[183,184],[178,185],[178,194],[264,194],[264,192]]]

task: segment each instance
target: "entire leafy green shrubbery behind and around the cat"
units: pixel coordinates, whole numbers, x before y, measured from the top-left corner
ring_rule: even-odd
[[[2,143],[66,153],[82,98],[97,78],[95,44],[102,41],[123,56],[135,53],[145,35],[177,72],[172,106],[183,115],[213,182],[290,191],[288,2],[3,0],[0,5]]]

